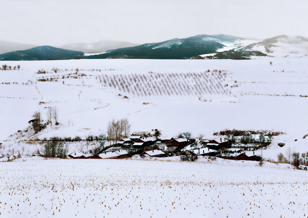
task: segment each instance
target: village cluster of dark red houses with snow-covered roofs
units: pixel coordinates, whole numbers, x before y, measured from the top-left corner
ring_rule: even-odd
[[[108,146],[100,154],[92,155],[87,152],[75,152],[67,155],[67,158],[126,159],[132,157],[164,158],[185,156],[186,159],[183,160],[195,160],[200,156],[219,156],[235,160],[260,160],[260,150],[256,150],[256,154],[254,150],[255,147],[253,146],[232,146],[226,135],[213,136],[212,139],[157,138],[131,135],[128,138],[119,140],[113,146]]]

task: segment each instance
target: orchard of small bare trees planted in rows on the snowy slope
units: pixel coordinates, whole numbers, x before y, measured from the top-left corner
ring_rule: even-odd
[[[134,96],[161,95],[231,95],[225,83],[225,71],[201,73],[117,74],[96,77],[100,83]]]

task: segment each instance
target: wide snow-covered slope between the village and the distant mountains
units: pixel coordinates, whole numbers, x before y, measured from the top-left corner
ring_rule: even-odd
[[[190,131],[195,137],[203,133],[211,138],[226,128],[285,132],[274,137],[263,153],[267,158],[275,158],[287,147],[308,150],[308,137],[303,139],[308,134],[305,56],[246,61],[0,62],[3,64],[21,66],[20,70],[0,71],[0,143],[6,149],[11,146],[20,151],[18,142],[35,137],[99,135],[106,133],[112,118],[126,117],[131,131],[158,128],[166,137]],[[47,72],[38,74],[42,69]],[[37,135],[25,132],[35,111],[47,120],[48,107],[57,107],[61,124],[49,125]],[[278,147],[280,141],[286,146]],[[31,146],[29,151],[37,149]]]

